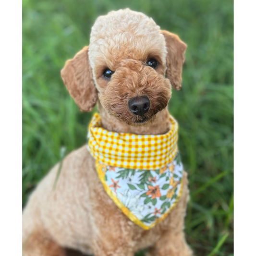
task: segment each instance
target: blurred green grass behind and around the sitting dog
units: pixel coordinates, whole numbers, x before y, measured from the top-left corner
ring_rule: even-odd
[[[67,152],[85,144],[82,113],[60,77],[88,45],[98,15],[129,7],[188,44],[183,90],[170,111],[189,172],[186,234],[197,256],[235,255],[235,2],[233,0],[22,0],[21,207]],[[141,256],[143,253],[140,254]]]

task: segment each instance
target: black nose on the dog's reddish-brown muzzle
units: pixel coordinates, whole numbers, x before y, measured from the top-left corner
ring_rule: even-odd
[[[128,101],[129,109],[138,116],[146,114],[150,108],[150,101],[146,96],[131,98]]]

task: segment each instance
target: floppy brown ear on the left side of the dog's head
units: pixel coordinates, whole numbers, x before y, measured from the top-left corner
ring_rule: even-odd
[[[85,112],[93,110],[98,98],[89,64],[88,49],[86,46],[72,60],[66,61],[65,67],[61,70],[62,80],[70,95],[80,110]]]

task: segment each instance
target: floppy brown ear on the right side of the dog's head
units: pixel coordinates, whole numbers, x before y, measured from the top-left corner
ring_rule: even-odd
[[[185,61],[185,51],[187,45],[175,34],[162,30],[165,37],[167,57],[166,57],[166,75],[171,81],[171,85],[176,89],[182,88],[182,67]]]

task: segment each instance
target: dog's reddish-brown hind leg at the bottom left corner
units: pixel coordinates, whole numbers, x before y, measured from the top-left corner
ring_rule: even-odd
[[[43,232],[32,232],[22,241],[21,256],[66,256],[66,254]]]

